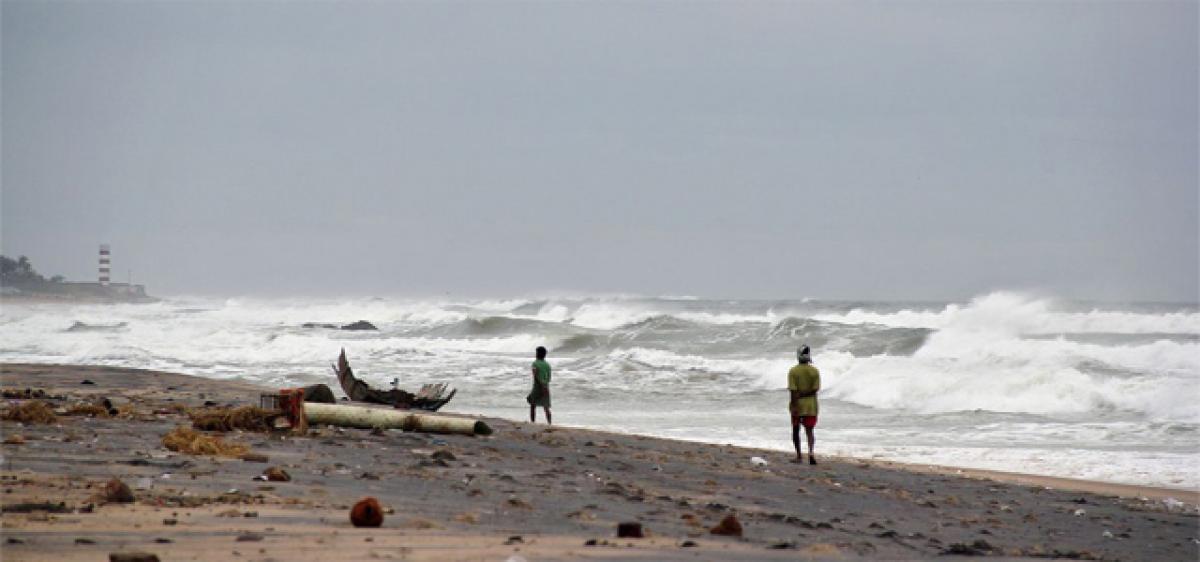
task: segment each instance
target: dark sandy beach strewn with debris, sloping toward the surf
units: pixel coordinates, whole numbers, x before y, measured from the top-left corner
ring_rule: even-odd
[[[486,419],[496,431],[485,437],[338,428],[223,436],[262,462],[173,453],[161,438],[191,425],[188,408],[253,405],[270,389],[18,364],[0,367],[0,385],[41,390],[60,412],[103,399],[119,412],[0,423],[6,561],[136,551],[163,561],[1200,555],[1194,490],[858,459],[796,465],[779,452],[502,419]],[[23,401],[6,399],[6,408]],[[256,480],[269,467],[290,480]],[[106,501],[112,478],[133,502]],[[380,528],[349,522],[365,496],[386,510]],[[742,536],[713,534],[728,516]],[[622,522],[641,524],[646,537],[618,538]]]

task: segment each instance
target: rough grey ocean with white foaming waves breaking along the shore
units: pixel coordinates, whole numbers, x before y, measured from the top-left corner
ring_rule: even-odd
[[[377,331],[305,328],[365,319]],[[997,292],[961,303],[214,299],[5,304],[0,361],[326,383],[344,348],[379,388],[458,389],[445,411],[527,419],[553,365],[557,424],[791,449],[786,373],[821,370],[817,454],[1200,486],[1200,310]],[[539,412],[539,418],[541,414]]]

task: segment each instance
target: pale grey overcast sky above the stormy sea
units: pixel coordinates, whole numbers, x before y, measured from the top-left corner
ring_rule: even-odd
[[[155,294],[1198,299],[1198,2],[2,4],[5,255]]]

